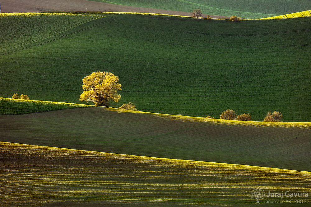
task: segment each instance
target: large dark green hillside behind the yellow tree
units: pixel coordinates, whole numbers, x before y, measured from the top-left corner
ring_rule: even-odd
[[[0,96],[24,93],[35,100],[79,103],[82,78],[100,70],[118,75],[122,84],[122,98],[113,107],[131,101],[142,111],[214,117],[230,108],[256,121],[278,110],[284,121],[311,120],[309,17],[233,23],[87,14],[103,17],[81,25],[84,19],[77,15],[80,25],[47,40],[3,47]],[[2,20],[5,34],[18,29],[12,21],[29,31],[41,23],[21,15]],[[55,34],[49,25],[41,29]],[[32,42],[31,33],[10,34]]]

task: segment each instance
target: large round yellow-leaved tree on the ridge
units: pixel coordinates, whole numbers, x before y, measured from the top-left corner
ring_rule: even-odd
[[[82,82],[83,93],[80,101],[93,101],[96,106],[109,106],[109,101],[118,102],[121,96],[119,78],[110,72],[93,72],[86,76]]]

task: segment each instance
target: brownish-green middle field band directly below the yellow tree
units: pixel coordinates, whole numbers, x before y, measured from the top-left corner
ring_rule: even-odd
[[[88,107],[0,116],[0,141],[311,171],[311,124]]]

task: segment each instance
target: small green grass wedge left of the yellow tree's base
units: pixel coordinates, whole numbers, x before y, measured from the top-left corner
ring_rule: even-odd
[[[90,105],[0,97],[0,115],[30,114],[79,107],[90,107]]]

